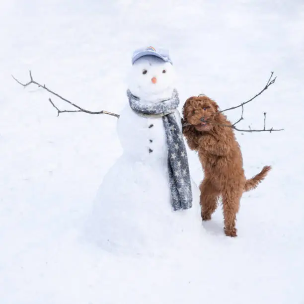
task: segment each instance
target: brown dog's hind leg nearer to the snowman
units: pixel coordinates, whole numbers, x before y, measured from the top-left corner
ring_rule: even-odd
[[[217,209],[217,202],[220,195],[219,190],[211,183],[209,178],[204,178],[200,185],[201,216],[203,221],[211,220],[212,214]]]

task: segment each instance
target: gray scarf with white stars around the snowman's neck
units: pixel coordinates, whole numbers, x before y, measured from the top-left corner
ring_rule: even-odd
[[[137,114],[162,118],[167,140],[172,208],[174,211],[191,208],[192,190],[187,151],[174,115],[179,104],[177,90],[173,91],[170,99],[157,103],[142,103],[130,90],[127,90],[127,96],[132,110]]]

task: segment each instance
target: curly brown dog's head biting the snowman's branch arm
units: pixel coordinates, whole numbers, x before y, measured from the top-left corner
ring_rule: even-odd
[[[210,131],[218,113],[218,104],[204,95],[188,98],[183,107],[184,122],[192,125],[197,131]]]

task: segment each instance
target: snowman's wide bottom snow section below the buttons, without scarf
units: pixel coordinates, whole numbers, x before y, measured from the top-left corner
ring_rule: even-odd
[[[164,170],[165,166],[131,163],[121,156],[98,190],[86,238],[112,253],[143,254],[172,248],[189,234],[199,237],[203,227],[198,187],[192,181],[192,208],[172,211]]]

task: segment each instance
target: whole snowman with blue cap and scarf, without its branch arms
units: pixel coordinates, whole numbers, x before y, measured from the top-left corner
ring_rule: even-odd
[[[123,153],[104,176],[88,219],[87,236],[105,250],[172,246],[200,223],[174,82],[166,50],[134,52],[117,122]]]

